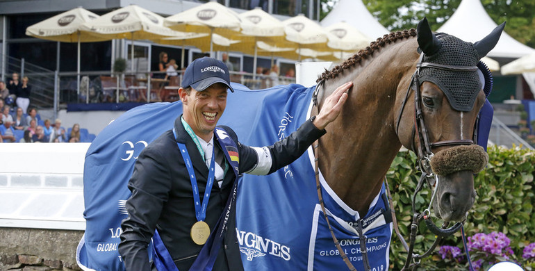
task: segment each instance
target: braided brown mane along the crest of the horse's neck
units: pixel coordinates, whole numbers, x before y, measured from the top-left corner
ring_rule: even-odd
[[[361,63],[363,59],[372,56],[374,51],[385,47],[386,44],[415,36],[416,30],[412,28],[411,30],[391,32],[390,34],[384,35],[383,38],[377,38],[375,42],[370,43],[370,46],[366,47],[365,49],[361,49],[361,51],[354,54],[352,57],[347,58],[347,60],[345,60],[343,63],[336,65],[336,67],[332,68],[330,71],[325,69],[325,72],[320,75],[318,80],[316,80],[316,83],[320,83],[322,80],[327,81],[327,79],[336,78],[336,76],[342,73],[345,69],[349,69],[350,67],[354,67],[355,65]]]

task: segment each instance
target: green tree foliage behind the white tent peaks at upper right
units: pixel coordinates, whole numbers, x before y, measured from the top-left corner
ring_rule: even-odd
[[[321,0],[323,18],[338,0]],[[370,13],[390,31],[415,28],[427,17],[431,29],[444,24],[461,0],[362,0]],[[519,42],[535,47],[535,0],[480,0],[493,21],[507,21],[505,31]]]

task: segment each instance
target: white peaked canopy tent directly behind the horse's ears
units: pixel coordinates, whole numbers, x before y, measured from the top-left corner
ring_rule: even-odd
[[[477,42],[491,33],[497,24],[491,19],[479,0],[463,0],[450,19],[437,32],[454,35],[467,42]],[[507,24],[505,26],[507,31]],[[491,58],[520,58],[535,49],[511,38],[503,32],[496,47],[488,53]]]

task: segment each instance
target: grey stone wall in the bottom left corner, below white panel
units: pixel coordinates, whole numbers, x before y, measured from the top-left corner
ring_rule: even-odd
[[[83,231],[0,227],[0,270],[81,270],[76,247]]]

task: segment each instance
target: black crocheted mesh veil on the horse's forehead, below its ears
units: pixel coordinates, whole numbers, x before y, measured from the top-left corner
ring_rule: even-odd
[[[437,35],[441,49],[431,56],[425,55],[422,62],[453,66],[476,66],[479,55],[471,42],[463,42],[452,35]],[[482,71],[484,74],[488,71]],[[420,83],[434,83],[446,95],[452,108],[459,111],[472,110],[477,94],[483,87],[477,71],[454,72],[434,67],[420,69]],[[487,85],[487,84],[486,84]]]

